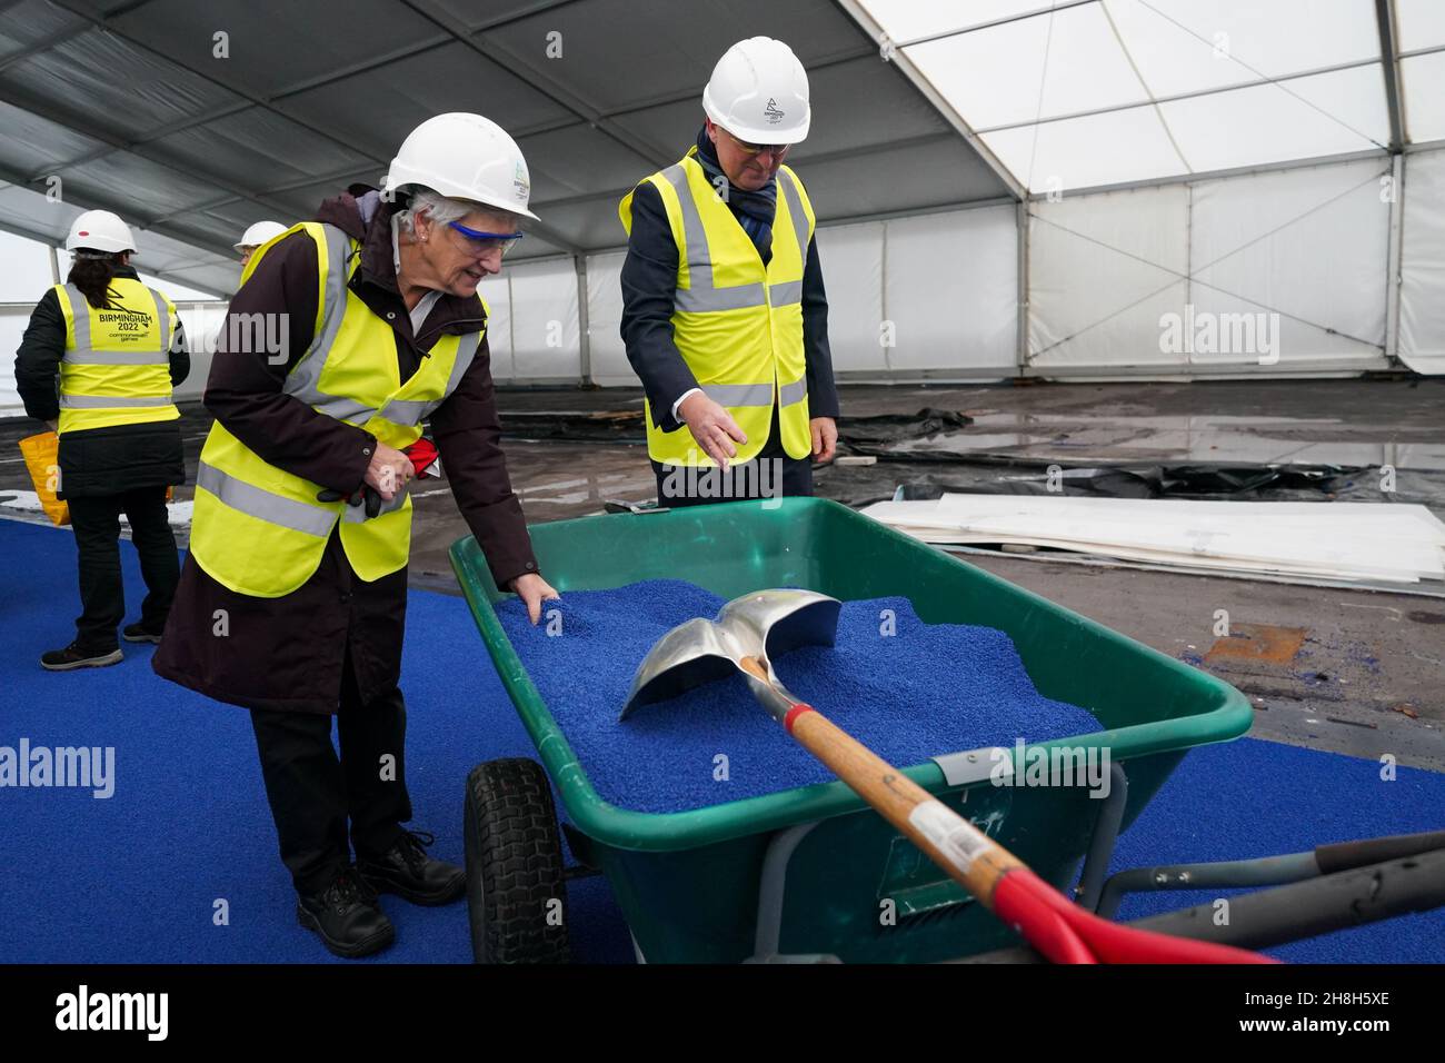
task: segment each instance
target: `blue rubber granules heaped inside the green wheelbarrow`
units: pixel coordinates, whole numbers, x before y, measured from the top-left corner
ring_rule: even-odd
[[[722,605],[691,583],[647,580],[568,592],[546,603],[538,626],[516,599],[497,607],[605,801],[683,811],[835,778],[753,699],[741,675],[640,706],[618,722],[653,644]],[[1043,742],[1101,729],[1084,709],[1039,694],[1003,632],[923,623],[903,597],[845,602],[834,646],[795,649],[773,670],[793,694],[900,768],[961,749],[1012,749],[1020,738]]]

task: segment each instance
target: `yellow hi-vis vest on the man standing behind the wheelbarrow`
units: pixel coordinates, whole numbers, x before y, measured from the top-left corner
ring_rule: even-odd
[[[749,461],[767,443],[773,405],[783,450],[812,451],[803,360],[803,265],[816,218],[802,181],[777,171],[773,257],[767,266],[753,240],[718,197],[692,148],[681,162],[646,178],[662,195],[678,244],[672,336],[698,386],[725,406],[747,435],[734,461]],[[629,192],[617,208],[631,236]],[[672,466],[714,466],[683,425],[662,431],[647,408],[647,453]]]

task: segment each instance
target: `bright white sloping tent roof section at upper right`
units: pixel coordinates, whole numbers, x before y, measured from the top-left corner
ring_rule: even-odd
[[[1439,0],[841,1],[1032,192],[1445,139]]]

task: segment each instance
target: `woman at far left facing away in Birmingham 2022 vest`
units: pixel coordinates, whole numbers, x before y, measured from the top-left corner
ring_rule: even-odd
[[[130,229],[104,210],[75,218],[64,285],[30,315],[14,379],[30,417],[61,434],[58,495],[71,511],[79,551],[81,615],[75,641],[40,657],[51,671],[116,664],[126,615],[120,515],[140,554],[147,594],[120,636],[159,642],[179,563],[166,489],[185,483],[181,412],[172,386],[191,372],[176,308],[130,265]]]

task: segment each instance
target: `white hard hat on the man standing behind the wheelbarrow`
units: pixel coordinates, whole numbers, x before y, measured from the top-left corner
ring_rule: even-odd
[[[772,38],[738,40],[712,68],[702,110],[738,140],[793,145],[808,136],[808,72]]]

